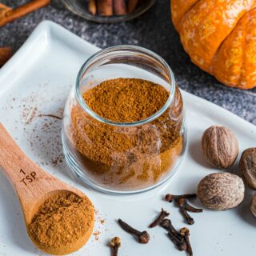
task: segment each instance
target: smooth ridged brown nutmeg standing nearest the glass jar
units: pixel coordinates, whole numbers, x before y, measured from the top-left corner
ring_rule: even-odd
[[[232,130],[224,126],[210,126],[202,134],[202,152],[212,166],[228,168],[238,157],[238,140]]]

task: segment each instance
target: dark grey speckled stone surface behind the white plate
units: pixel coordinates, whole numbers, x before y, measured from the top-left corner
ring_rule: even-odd
[[[13,7],[27,1],[1,2]],[[216,79],[194,66],[182,49],[178,34],[170,22],[168,0],[158,0],[150,11],[134,21],[102,25],[87,22],[71,14],[61,1],[55,0],[46,8],[0,27],[0,46],[10,45],[18,50],[34,27],[46,19],[61,24],[99,47],[134,44],[154,50],[170,64],[178,85],[183,90],[206,98],[256,125],[256,88],[242,91],[222,86]]]

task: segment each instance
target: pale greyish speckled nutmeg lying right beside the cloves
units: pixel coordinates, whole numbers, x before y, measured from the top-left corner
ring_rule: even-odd
[[[238,206],[245,194],[242,178],[229,173],[207,175],[198,184],[198,198],[213,210],[228,210]]]

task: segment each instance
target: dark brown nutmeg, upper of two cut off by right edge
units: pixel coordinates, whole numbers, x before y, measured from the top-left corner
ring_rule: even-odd
[[[256,148],[252,147],[242,152],[239,171],[252,189],[256,190]]]

